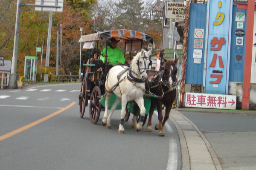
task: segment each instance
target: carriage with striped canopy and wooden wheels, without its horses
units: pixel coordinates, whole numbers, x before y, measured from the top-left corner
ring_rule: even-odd
[[[83,49],[86,49],[86,51],[91,51],[93,49],[102,51],[100,48],[107,47],[108,39],[111,37],[122,42],[121,46],[124,48],[122,51],[124,51],[125,58],[128,60],[131,60],[133,57],[132,54],[135,51],[139,52],[142,48],[147,50],[148,47],[152,47],[153,45],[152,37],[147,34],[131,30],[111,30],[88,34],[81,36],[79,42],[84,42]],[[107,63],[107,58],[108,53],[106,51],[105,63]],[[100,59],[96,59],[94,64],[86,64],[85,62],[82,67],[83,74],[81,91],[79,94],[80,117],[83,118],[85,108],[86,106],[89,106],[90,120],[94,124],[97,123],[100,111],[104,108],[100,99],[102,99],[105,94],[106,75],[111,67],[105,63],[103,64]],[[102,71],[98,71],[99,68],[101,68]],[[114,95],[112,96],[115,98]]]

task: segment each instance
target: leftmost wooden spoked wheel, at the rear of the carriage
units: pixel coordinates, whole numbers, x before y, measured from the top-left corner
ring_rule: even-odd
[[[79,112],[80,112],[80,117],[83,118],[84,116],[84,111],[85,111],[85,107],[86,107],[86,78],[83,78],[82,81],[82,86],[81,86],[81,91],[80,91],[80,95],[79,95]]]

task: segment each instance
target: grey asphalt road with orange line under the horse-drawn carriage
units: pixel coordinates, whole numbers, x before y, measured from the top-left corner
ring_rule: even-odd
[[[180,170],[179,138],[169,120],[166,136],[131,129],[118,133],[79,116],[81,83],[0,90],[0,170]],[[152,124],[157,124],[154,115]]]

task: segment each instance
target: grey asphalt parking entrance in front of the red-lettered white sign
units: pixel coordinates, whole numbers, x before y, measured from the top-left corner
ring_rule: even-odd
[[[204,133],[223,170],[256,169],[256,116],[182,114]]]

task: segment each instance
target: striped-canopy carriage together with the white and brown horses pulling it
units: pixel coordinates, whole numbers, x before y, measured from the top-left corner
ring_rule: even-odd
[[[175,99],[175,97],[166,97],[166,94],[170,94],[170,92],[172,92],[173,96],[173,90],[175,89],[174,86],[176,83],[172,82],[175,82],[176,80],[177,68],[175,64],[177,60],[168,61],[168,63],[165,62],[167,64],[163,65],[160,71],[151,71],[151,73],[148,74],[148,67],[152,63],[150,60],[151,51],[145,51],[143,48],[147,49],[148,47],[152,46],[153,38],[147,34],[137,31],[104,31],[82,36],[79,42],[84,42],[84,47],[86,49],[91,50],[95,48],[95,46],[97,49],[99,49],[99,47],[103,47],[102,44],[107,47],[107,45],[109,45],[108,39],[111,37],[114,37],[116,40],[124,43],[124,53],[127,54],[126,51],[129,50],[128,53],[130,54],[130,59],[132,58],[132,53],[134,53],[134,51],[137,51],[137,54],[131,59],[129,65],[116,65],[110,70],[109,65],[107,64],[107,52],[105,55],[104,64],[100,59],[96,59],[94,64],[83,64],[83,77],[81,83],[81,92],[79,95],[80,117],[82,118],[84,116],[85,108],[87,104],[89,104],[90,120],[92,123],[96,124],[99,120],[102,108],[105,107],[102,125],[105,125],[107,128],[111,128],[110,121],[113,111],[115,109],[121,109],[119,133],[124,133],[123,122],[124,120],[128,120],[129,115],[127,102],[135,101],[138,107],[135,107],[134,109],[135,111],[131,122],[131,127],[136,128],[137,131],[140,131],[142,125],[144,125],[146,121],[146,118],[144,119],[146,113],[144,99],[145,97],[150,98],[148,96],[154,98],[148,100],[149,102],[153,101],[152,104],[149,104],[150,115],[148,124],[151,123],[151,116],[154,108],[157,107],[158,113],[162,114],[162,111],[159,111],[159,109],[161,108],[162,110],[163,104],[166,106],[166,111],[168,112],[169,117],[171,108],[166,104],[168,101],[163,103],[163,99],[169,100],[170,105],[172,105],[172,102]],[[99,68],[101,68],[102,71],[99,71]],[[151,82],[147,81],[148,75],[151,77]],[[151,88],[154,93],[150,93]],[[111,100],[113,100],[112,103],[110,102]],[[159,106],[160,104],[161,106]],[[137,115],[139,108],[140,114]],[[109,115],[108,109],[111,110]],[[159,116],[161,128],[161,132],[159,131],[160,136],[164,136],[161,126],[162,119],[163,116]],[[136,120],[137,124],[135,122]],[[164,122],[165,121],[166,116]],[[147,127],[147,130],[151,131],[150,127]]]

